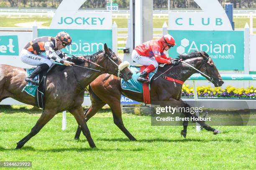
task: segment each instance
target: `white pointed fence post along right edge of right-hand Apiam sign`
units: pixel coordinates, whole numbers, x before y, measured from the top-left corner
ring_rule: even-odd
[[[250,28],[248,23],[246,23],[244,27],[244,74],[250,73],[250,62],[249,62],[249,55],[250,55]],[[244,81],[244,88],[249,87],[249,81]]]

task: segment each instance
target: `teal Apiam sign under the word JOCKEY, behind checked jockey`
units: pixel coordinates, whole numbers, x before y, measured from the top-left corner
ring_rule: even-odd
[[[72,37],[72,45],[61,50],[75,56],[91,55],[104,50],[104,43],[112,48],[112,30],[57,30],[38,29],[38,37],[55,37],[60,31],[66,31]]]

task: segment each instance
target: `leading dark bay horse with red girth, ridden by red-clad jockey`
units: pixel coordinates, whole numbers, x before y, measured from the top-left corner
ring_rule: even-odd
[[[179,56],[183,61],[189,63],[193,67],[197,68],[201,72],[210,76],[206,77],[210,80],[215,87],[221,86],[224,82],[221,79],[221,76],[214,65],[214,62],[209,57],[206,52],[192,52],[188,55],[180,55]],[[157,77],[161,73],[168,70],[172,65],[167,65],[165,67],[159,67],[158,72],[154,77]],[[164,75],[173,77],[175,79],[186,81],[192,74],[197,71],[185,65],[184,63],[179,63],[179,65],[173,67],[170,71],[166,72]],[[153,79],[154,79],[153,77]],[[123,90],[120,86],[120,80],[114,75],[103,74],[97,77],[89,86],[90,98],[92,105],[85,111],[85,120],[88,121],[93,115],[96,114],[100,108],[102,108],[105,104],[108,104],[113,113],[113,120],[115,125],[120,128],[120,130],[125,133],[125,135],[130,140],[136,140],[133,135],[125,128],[122,120],[122,112],[120,107],[120,97],[124,95],[132,100],[136,100],[139,102],[143,102],[143,94],[132,92],[128,90]],[[180,105],[183,107],[190,107],[186,103],[181,100],[182,94],[182,85],[174,82],[164,80],[164,78],[159,77],[156,80],[151,81],[151,90],[150,90],[150,99],[151,102],[154,101],[169,101],[174,103],[175,105]],[[195,114],[190,114],[189,112],[184,112],[185,117],[197,117]],[[209,125],[205,124],[205,122],[198,121],[198,123],[204,127],[206,130],[210,130],[214,132],[214,134],[220,133],[219,130],[211,128]],[[183,122],[183,130],[181,132],[182,136],[186,138],[187,135],[187,125],[188,121]],[[79,139],[79,135],[81,130],[78,126],[77,133],[75,135],[75,139]]]

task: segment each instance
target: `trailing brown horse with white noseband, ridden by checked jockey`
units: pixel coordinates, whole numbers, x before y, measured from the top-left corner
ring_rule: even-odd
[[[122,64],[122,61],[112,52],[111,49],[104,45],[104,51],[99,51],[90,56],[84,56],[87,61],[79,60],[77,65],[80,67],[66,67],[57,65],[47,75],[46,91],[44,93],[45,108],[41,117],[36,122],[36,125],[31,129],[31,132],[17,143],[17,147],[21,148],[28,142],[30,138],[36,135],[46,125],[51,118],[59,112],[68,110],[74,115],[77,123],[82,128],[82,132],[87,138],[90,147],[94,148],[90,131],[84,121],[84,110],[82,102],[84,100],[84,87],[90,84],[96,77],[103,73],[117,75],[117,71],[121,71],[125,80],[129,80],[132,72]],[[76,62],[76,60],[73,60]],[[94,63],[92,63],[94,62]],[[119,65],[119,67],[118,67]],[[122,69],[120,69],[122,65]],[[126,65],[127,66],[127,65]],[[86,69],[92,68],[100,70],[96,72]],[[21,92],[26,86],[26,70],[20,67],[10,65],[0,65],[0,102],[11,97],[20,102],[36,106],[35,98],[28,95],[26,92]]]

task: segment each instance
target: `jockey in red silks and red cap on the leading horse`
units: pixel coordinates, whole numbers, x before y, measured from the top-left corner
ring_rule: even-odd
[[[158,63],[173,64],[174,66],[178,65],[179,63],[177,61],[171,61],[172,58],[168,58],[164,54],[164,50],[167,51],[174,45],[176,45],[175,40],[169,34],[164,35],[160,39],[137,45],[132,52],[133,61],[141,65],[148,65],[148,67],[141,72],[137,80],[139,82],[148,82],[148,73],[153,71],[158,66]]]

